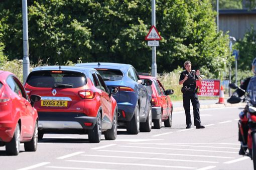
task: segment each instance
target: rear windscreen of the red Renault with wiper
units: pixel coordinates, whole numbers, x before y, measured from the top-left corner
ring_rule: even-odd
[[[76,71],[40,70],[32,71],[27,83],[34,87],[76,88],[86,84],[86,77]]]

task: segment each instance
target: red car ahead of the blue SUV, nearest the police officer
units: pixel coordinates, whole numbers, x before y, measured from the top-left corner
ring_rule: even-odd
[[[153,83],[147,86],[147,89],[152,95],[151,105],[152,105],[152,118],[155,128],[162,127],[162,121],[165,123],[165,127],[172,126],[172,112],[173,105],[169,94],[173,94],[173,89],[165,90],[164,86],[161,84],[157,77],[140,75],[140,78],[150,79]]]

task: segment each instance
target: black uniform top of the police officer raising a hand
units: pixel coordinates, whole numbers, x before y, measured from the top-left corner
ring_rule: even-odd
[[[183,87],[187,86],[195,89],[196,79],[198,79],[198,76],[196,75],[196,71],[194,69],[191,70],[190,73],[187,70],[182,71],[180,74],[180,81],[185,78],[186,74],[188,75],[188,79],[183,82]]]

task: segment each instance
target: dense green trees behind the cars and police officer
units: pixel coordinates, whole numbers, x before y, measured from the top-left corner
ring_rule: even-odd
[[[29,56],[48,64],[68,60],[131,63],[151,70],[150,0],[28,0]],[[22,58],[22,4],[0,2],[5,52]],[[157,23],[163,40],[157,47],[158,72],[190,59],[208,77],[221,77],[230,63],[228,36],[216,33],[209,0],[159,0]],[[214,72],[214,74],[210,73]]]

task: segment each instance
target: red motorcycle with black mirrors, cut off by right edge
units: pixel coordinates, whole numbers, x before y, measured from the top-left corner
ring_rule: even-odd
[[[239,141],[241,142],[239,154],[249,156],[253,160],[253,168],[256,170],[256,76],[250,78],[246,91],[235,83],[230,83],[229,87],[245,92],[243,100],[246,102],[246,106],[239,113],[238,120]],[[232,95],[227,102],[238,103],[241,100],[240,97]]]

